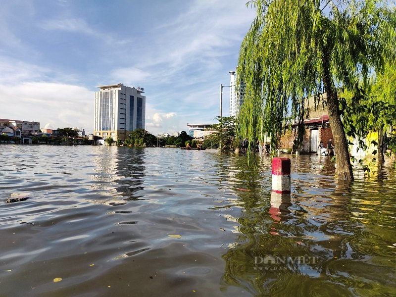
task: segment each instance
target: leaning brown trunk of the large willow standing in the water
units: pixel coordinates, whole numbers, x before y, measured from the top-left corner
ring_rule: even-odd
[[[338,179],[353,181],[347,137],[345,136],[344,126],[341,122],[337,91],[329,71],[329,60],[326,53],[323,55],[323,86],[327,95],[330,128],[334,137]]]

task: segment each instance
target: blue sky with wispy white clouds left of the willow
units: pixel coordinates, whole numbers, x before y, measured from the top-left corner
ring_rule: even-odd
[[[246,2],[1,1],[0,118],[93,132],[96,87],[123,83],[145,89],[152,134],[212,123],[254,18]]]

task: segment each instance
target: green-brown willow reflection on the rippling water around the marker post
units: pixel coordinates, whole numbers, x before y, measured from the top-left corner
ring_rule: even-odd
[[[260,172],[268,171],[268,164],[261,165]],[[316,172],[318,165],[322,170]],[[370,296],[393,291],[394,265],[386,263],[391,252],[388,258],[378,256],[379,247],[387,243],[380,230],[369,231],[354,214],[356,199],[376,203],[372,198],[378,199],[382,182],[377,180],[367,198],[367,193],[362,195],[367,180],[335,183],[329,159],[303,156],[292,160],[292,195],[277,196],[265,173],[252,172],[247,167],[236,174],[248,191],[239,193],[244,206],[237,219],[241,233],[223,255],[223,291],[227,286],[242,287],[254,296]],[[364,215],[378,222],[375,211]],[[372,245],[364,244],[363,250],[362,242]]]

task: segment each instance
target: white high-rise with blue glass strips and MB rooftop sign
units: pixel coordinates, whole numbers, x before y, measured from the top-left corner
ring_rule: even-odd
[[[94,135],[125,140],[135,129],[145,129],[143,88],[123,84],[99,86],[95,92]]]

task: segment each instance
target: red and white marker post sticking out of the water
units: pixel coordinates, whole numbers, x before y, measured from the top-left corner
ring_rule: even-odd
[[[290,194],[289,158],[272,158],[272,192]]]

